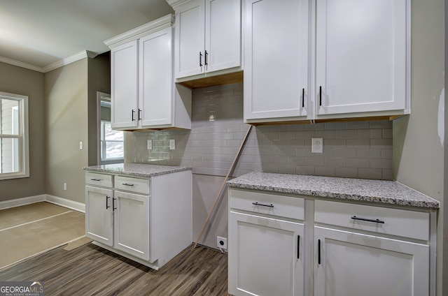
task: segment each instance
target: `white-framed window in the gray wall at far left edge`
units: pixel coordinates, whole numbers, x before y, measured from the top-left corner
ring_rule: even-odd
[[[0,92],[0,179],[29,177],[28,97]]]

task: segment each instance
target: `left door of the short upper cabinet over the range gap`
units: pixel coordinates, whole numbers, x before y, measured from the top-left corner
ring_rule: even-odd
[[[204,71],[204,0],[195,0],[176,10],[176,78]]]

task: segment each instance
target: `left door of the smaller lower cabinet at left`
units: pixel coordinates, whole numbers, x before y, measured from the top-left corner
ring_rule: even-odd
[[[111,189],[85,186],[85,236],[113,245],[113,192]]]

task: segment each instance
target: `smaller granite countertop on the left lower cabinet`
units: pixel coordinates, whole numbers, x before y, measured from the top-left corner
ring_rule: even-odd
[[[112,165],[93,165],[83,168],[94,172],[109,172],[119,175],[129,175],[135,177],[155,177],[191,170],[191,167],[171,166],[171,165],[146,165],[143,163],[116,163]]]

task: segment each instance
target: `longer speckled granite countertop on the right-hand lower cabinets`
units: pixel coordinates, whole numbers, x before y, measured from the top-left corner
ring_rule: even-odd
[[[377,202],[409,207],[440,207],[437,200],[399,182],[250,172],[227,182],[233,188]]]

